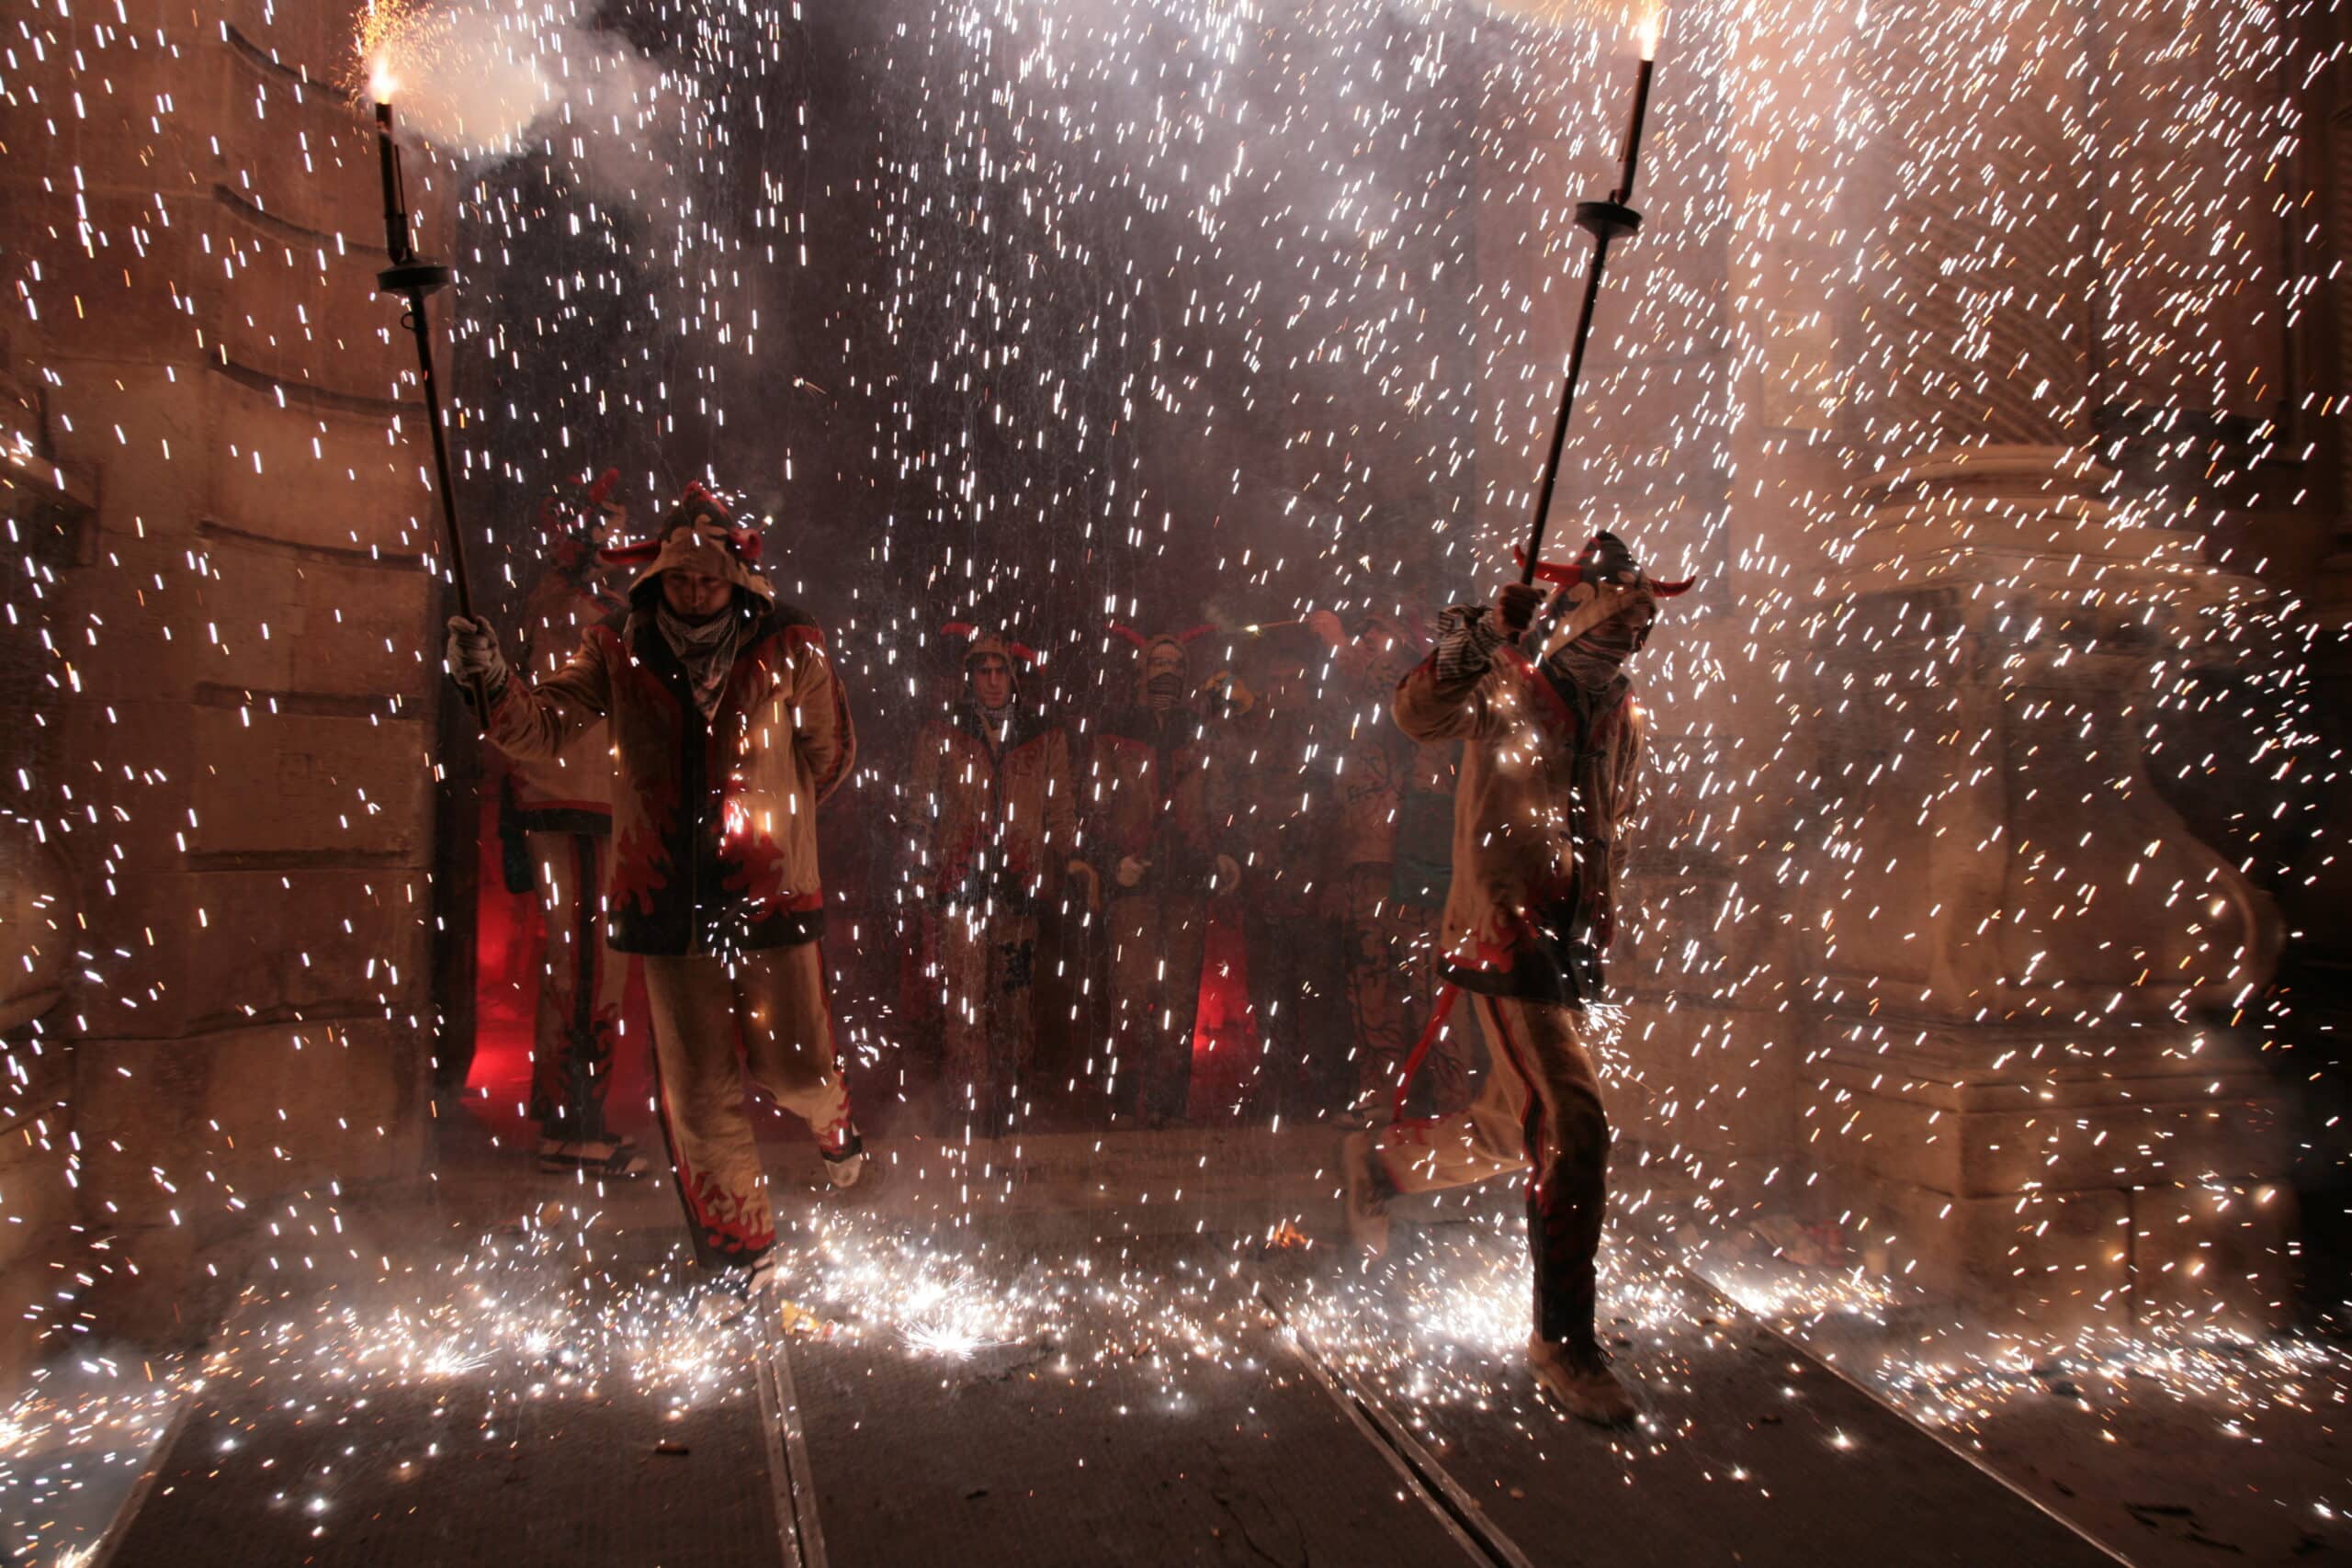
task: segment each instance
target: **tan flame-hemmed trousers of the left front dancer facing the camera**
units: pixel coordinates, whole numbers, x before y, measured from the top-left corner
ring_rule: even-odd
[[[776,1244],[767,1171],[743,1077],[833,1145],[849,1128],[849,1088],[833,1048],[816,943],[731,959],[644,959],[654,1079],[677,1199],[706,1262],[755,1262]],[[739,1044],[741,1041],[741,1044]]]

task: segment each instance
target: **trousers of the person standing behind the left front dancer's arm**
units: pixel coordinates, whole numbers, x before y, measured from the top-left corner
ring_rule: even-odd
[[[588,832],[527,835],[548,945],[532,1027],[532,1119],[564,1143],[607,1138],[604,1088],[628,959],[604,947],[604,856]]]

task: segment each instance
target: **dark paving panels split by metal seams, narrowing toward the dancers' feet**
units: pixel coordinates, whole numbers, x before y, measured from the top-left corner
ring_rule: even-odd
[[[106,1561],[2105,1561],[1653,1279],[1611,1286],[1635,1429],[1552,1413],[1475,1324],[1418,1366],[1411,1281],[1470,1241],[1364,1276],[1214,1232],[955,1251],[851,1220],[724,1326],[649,1241],[306,1286],[247,1307]]]

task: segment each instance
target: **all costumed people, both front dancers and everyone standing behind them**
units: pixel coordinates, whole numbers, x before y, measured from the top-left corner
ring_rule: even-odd
[[[524,607],[529,675],[463,616],[447,665],[510,759],[510,872],[548,917],[541,1161],[647,1166],[602,1117],[612,971],[633,954],[696,1258],[748,1300],[776,1225],[743,1072],[807,1121],[833,1185],[866,1168],[818,957],[816,818],[856,755],[851,703],[818,625],[776,599],[760,536],[720,498],[689,487],[654,538],[616,543],[607,489],[590,489],[588,534],[607,534],[595,562],[633,574],[626,592],[607,597],[574,534]],[[1329,616],[1279,628],[1247,701],[1209,712],[1200,632],[1115,628],[1134,701],[1091,736],[1084,776],[1068,726],[1023,698],[1035,654],[950,623],[962,689],[915,741],[906,837],[960,1112],[1016,1117],[1040,922],[1075,896],[1108,931],[1115,1072],[1141,1121],[1181,1121],[1209,900],[1240,891],[1275,1110],[1338,1103],[1369,1121],[1341,1150],[1350,1237],[1378,1253],[1395,1197],[1526,1173],[1529,1366],[1564,1408],[1618,1422],[1632,1401],[1595,1338],[1609,1121],[1585,1009],[1602,999],[1639,771],[1623,665],[1686,583],[1651,581],[1611,534],[1536,576],[1444,611],[1428,654],[1397,623],[1355,642]],[[1385,691],[1392,731],[1322,738],[1310,670],[1331,665]],[[1341,762],[1303,769],[1317,750]],[[1411,856],[1416,820],[1446,811],[1446,863]],[[1482,1072],[1446,1027],[1461,999]]]

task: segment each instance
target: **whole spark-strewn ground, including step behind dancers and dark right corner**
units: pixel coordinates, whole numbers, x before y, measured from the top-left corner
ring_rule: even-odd
[[[1367,1267],[1315,1244],[1324,1145],[898,1143],[847,1204],[779,1147],[786,1284],[731,1324],[666,1182],[449,1150],[374,1215],[397,1281],[249,1295],[96,1561],[2114,1561],[2060,1514],[2147,1566],[2343,1549],[2293,1507],[2343,1474],[2324,1368],[2237,1436],[2145,1394],[1931,1436],[1830,1371],[1858,1340],[1806,1352],[1635,1237],[1604,1298],[1644,1415],[1578,1425],[1519,1366],[1510,1204]]]

